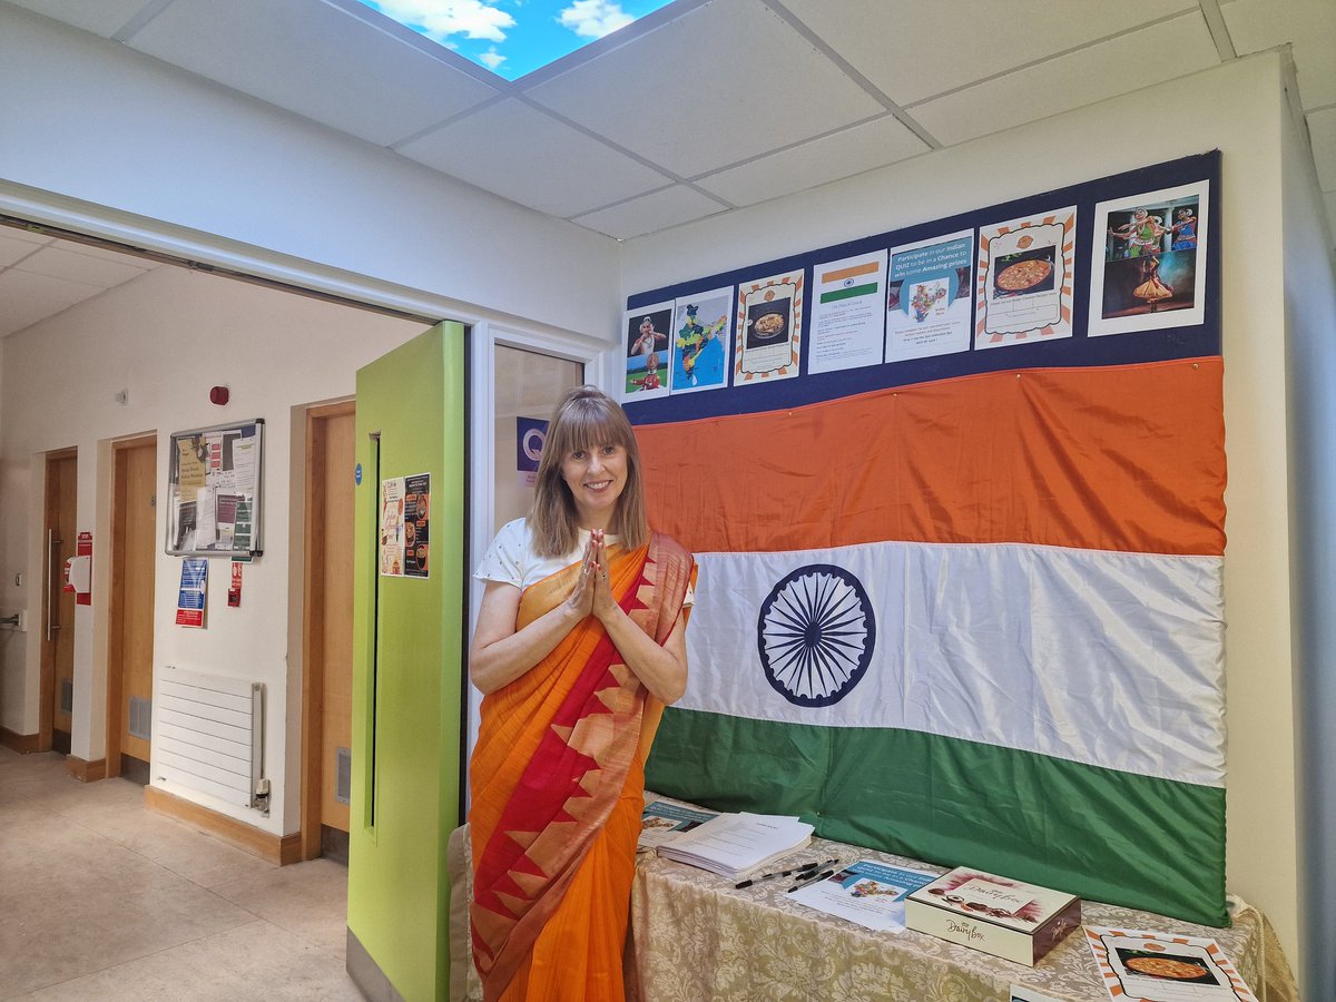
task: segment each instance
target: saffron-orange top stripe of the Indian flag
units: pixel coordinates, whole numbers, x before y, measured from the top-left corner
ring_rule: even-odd
[[[989,373],[636,437],[651,525],[697,553],[1225,546],[1220,358]]]

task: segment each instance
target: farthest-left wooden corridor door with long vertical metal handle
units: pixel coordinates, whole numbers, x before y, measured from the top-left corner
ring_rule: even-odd
[[[73,728],[75,596],[64,591],[65,561],[75,556],[79,457],[73,449],[47,457],[45,595],[41,641],[41,747],[69,752]]]

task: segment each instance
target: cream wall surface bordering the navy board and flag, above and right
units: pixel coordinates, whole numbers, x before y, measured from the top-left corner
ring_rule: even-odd
[[[629,240],[623,244],[623,294],[1220,148],[1221,224],[1214,235],[1225,254],[1228,884],[1268,912],[1297,967],[1297,693],[1284,486],[1285,325],[1279,309],[1281,87],[1280,53],[1237,60],[847,182]]]

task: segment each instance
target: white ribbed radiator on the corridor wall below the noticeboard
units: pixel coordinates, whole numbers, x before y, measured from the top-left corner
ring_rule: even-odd
[[[155,774],[269,814],[263,683],[167,665],[158,676],[156,701]]]

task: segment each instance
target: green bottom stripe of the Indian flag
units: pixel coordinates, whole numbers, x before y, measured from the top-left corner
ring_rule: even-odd
[[[672,707],[645,787],[715,810],[802,815],[838,842],[1228,925],[1217,787],[916,731]]]

